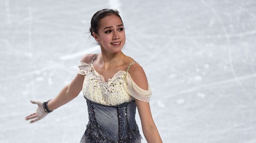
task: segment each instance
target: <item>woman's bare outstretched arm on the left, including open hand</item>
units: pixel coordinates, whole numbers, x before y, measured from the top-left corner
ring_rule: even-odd
[[[93,57],[93,54],[86,54],[80,62],[86,62],[90,63],[91,59]],[[69,101],[73,100],[74,98],[79,95],[79,93],[82,90],[84,82],[84,76],[80,74],[76,74],[76,77],[70,82],[70,84],[66,85],[61,92],[52,100],[48,101],[48,108],[49,110],[57,109],[58,107],[61,107],[62,105],[68,103]],[[42,105],[40,101],[32,101],[33,104],[38,104],[38,109],[35,113],[32,113],[31,115],[27,116],[25,120],[37,118],[36,120],[31,121],[30,123],[33,123],[35,121],[40,120],[41,118],[44,118],[45,112],[42,112]],[[40,103],[40,104],[39,104]],[[42,116],[42,117],[40,117]]]

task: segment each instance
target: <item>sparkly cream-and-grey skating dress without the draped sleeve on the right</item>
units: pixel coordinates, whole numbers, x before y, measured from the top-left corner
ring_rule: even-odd
[[[142,136],[135,121],[135,98],[123,86],[128,69],[135,62],[105,82],[93,67],[96,56],[90,64],[84,64],[83,71],[78,70],[79,74],[86,74],[82,92],[89,118],[80,143],[141,143]]]

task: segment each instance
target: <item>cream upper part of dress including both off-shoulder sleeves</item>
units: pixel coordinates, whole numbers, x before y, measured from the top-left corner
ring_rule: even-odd
[[[118,71],[107,83],[103,81],[104,78],[96,72],[92,64],[80,62],[78,73],[85,76],[82,92],[91,101],[104,105],[118,105],[134,99],[150,101],[152,95],[150,85],[148,84],[148,90],[143,90],[126,71]],[[120,83],[121,85],[113,87],[113,84]]]

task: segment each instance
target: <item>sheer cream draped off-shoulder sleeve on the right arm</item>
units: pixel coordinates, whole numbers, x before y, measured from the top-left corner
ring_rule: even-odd
[[[134,98],[144,101],[144,102],[149,102],[150,97],[152,95],[150,86],[148,84],[148,90],[144,90],[140,88],[132,79],[131,75],[127,72],[126,74],[126,80],[124,80],[123,86],[125,87],[125,90]]]

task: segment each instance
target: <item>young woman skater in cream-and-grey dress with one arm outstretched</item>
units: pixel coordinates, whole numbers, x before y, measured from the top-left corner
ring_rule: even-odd
[[[83,92],[89,121],[80,143],[141,143],[136,108],[148,143],[162,143],[149,106],[151,90],[143,68],[122,53],[125,30],[119,12],[97,11],[91,19],[90,32],[101,53],[86,54],[76,77],[47,102],[37,104],[35,113],[25,120],[34,123]]]

